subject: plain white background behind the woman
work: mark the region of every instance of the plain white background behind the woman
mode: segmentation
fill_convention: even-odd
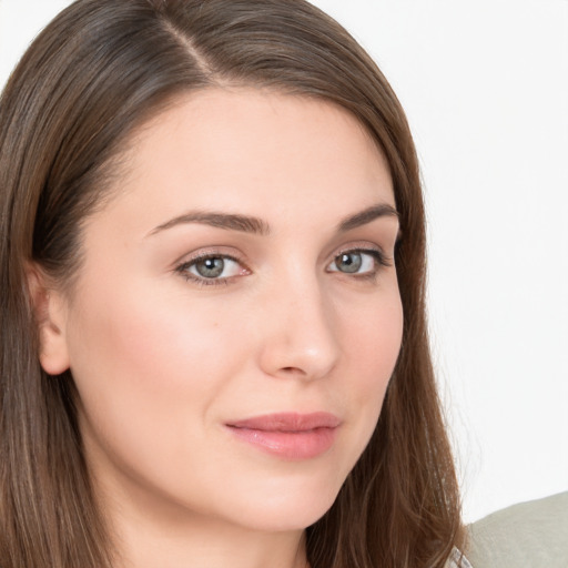
[[[0,84],[64,0],[0,0]],[[568,489],[568,1],[316,0],[406,109],[466,520]]]

